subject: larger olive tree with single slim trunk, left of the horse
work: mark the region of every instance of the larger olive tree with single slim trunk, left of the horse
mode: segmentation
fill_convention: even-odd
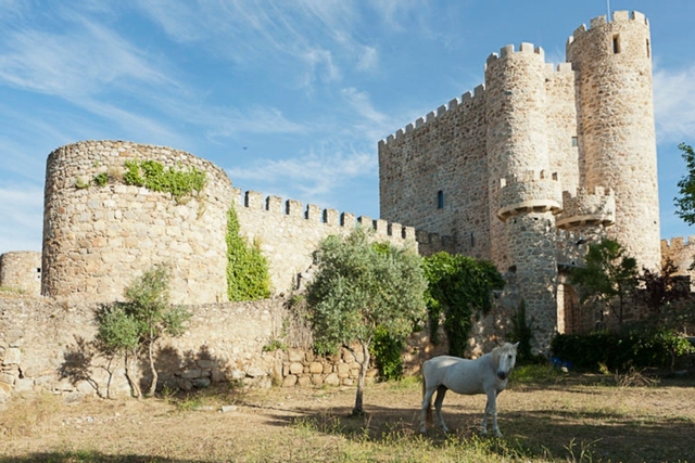
[[[409,247],[374,243],[358,228],[346,237],[330,235],[317,252],[318,270],[306,288],[306,301],[319,353],[340,347],[361,364],[353,414],[363,413],[369,347],[377,331],[404,338],[425,317],[427,287],[421,259]],[[353,346],[359,346],[362,355]]]

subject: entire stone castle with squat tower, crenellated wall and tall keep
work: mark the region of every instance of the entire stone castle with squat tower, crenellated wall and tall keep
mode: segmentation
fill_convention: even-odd
[[[659,240],[649,25],[615,12],[574,30],[567,63],[530,43],[493,53],[485,81],[378,144],[380,218],[242,192],[219,167],[182,151],[126,141],[62,146],[47,160],[43,246],[3,255],[0,285],[52,299],[112,301],[153,263],[173,265],[176,304],[226,300],[227,211],[267,257],[275,294],[293,291],[329,234],[356,226],[378,239],[492,260],[523,299],[536,347],[591,327],[567,270],[608,236],[640,265],[690,258]],[[197,168],[207,182],[185,204],[123,182],[124,164]],[[106,176],[108,182],[92,184]],[[686,256],[687,257],[683,257]],[[16,267],[16,268],[15,268]],[[683,267],[682,267],[683,268]],[[22,276],[25,275],[25,276]],[[34,291],[34,290],[31,290]]]

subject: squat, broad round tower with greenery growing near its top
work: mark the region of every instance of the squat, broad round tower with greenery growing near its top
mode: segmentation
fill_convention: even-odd
[[[124,182],[126,163],[205,175],[187,201]],[[43,208],[45,296],[80,301],[123,299],[154,265],[168,265],[175,304],[227,300],[227,213],[231,182],[189,153],[124,141],[86,141],[48,156]]]

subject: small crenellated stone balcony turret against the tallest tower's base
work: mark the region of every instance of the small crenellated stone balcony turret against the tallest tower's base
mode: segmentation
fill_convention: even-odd
[[[585,188],[572,195],[563,192],[563,214],[557,217],[559,229],[585,224],[611,226],[616,222],[616,196],[612,189],[596,187],[592,193]]]

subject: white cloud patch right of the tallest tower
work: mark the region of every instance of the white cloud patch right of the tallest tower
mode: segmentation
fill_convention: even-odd
[[[660,142],[679,142],[695,136],[695,65],[654,73],[654,112]]]

